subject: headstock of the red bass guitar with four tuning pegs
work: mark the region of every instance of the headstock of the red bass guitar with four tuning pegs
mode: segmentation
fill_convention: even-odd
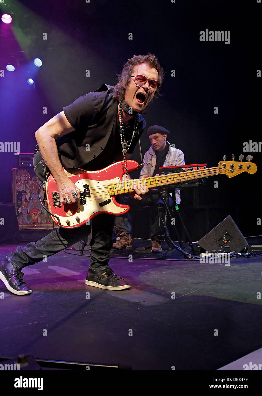
[[[239,156],[240,162],[235,161],[234,154],[232,154],[232,161],[226,161],[226,156],[223,158],[223,161],[220,161],[218,164],[219,173],[225,173],[228,177],[233,177],[243,172],[256,173],[257,166],[253,162],[250,162],[253,158],[251,155],[248,155],[246,158],[248,162],[242,162],[244,158],[243,154]]]

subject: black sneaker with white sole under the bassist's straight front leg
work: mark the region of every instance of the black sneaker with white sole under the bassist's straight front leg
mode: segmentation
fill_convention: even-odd
[[[124,290],[131,288],[131,285],[127,284],[121,276],[115,275],[111,268],[102,271],[89,268],[86,275],[86,285],[107,290]]]

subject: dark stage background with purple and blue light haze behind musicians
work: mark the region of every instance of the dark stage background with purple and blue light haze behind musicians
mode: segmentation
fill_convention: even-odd
[[[256,0],[5,0],[0,11],[13,13],[13,22],[0,27],[0,70],[5,72],[0,77],[0,140],[19,141],[20,152],[33,152],[35,131],[63,106],[104,82],[114,85],[134,54],[154,53],[165,78],[162,96],[144,115],[147,126],[170,130],[169,141],[184,152],[186,164],[216,166],[232,153],[237,160],[244,142],[262,140],[261,7]],[[230,44],[201,42],[199,33],[205,29],[230,30]],[[35,57],[43,61],[39,69]],[[15,72],[6,70],[7,63]],[[27,84],[31,76],[34,86]],[[144,134],[143,154],[149,146]],[[228,214],[245,236],[262,234],[257,224],[262,217],[261,152],[243,154],[253,155],[255,175],[208,178],[198,203],[192,190],[182,192],[181,209],[193,240]],[[11,168],[17,158],[0,153],[2,202],[11,202]],[[138,147],[133,159],[139,161]],[[146,219],[136,216],[133,236],[136,218],[145,236]]]

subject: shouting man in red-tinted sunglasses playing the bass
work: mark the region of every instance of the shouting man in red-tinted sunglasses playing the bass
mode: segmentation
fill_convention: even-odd
[[[63,167],[69,172],[75,168],[94,171],[120,160],[125,167],[145,128],[140,112],[159,93],[163,74],[155,55],[135,55],[124,65],[115,87],[103,84],[97,91],[79,97],[36,131],[39,150],[34,154],[34,170],[44,180],[46,167],[49,169],[62,204],[80,200],[80,190]],[[146,192],[148,188],[139,187],[131,195],[141,200]],[[24,249],[18,246],[0,263],[0,279],[11,293],[31,293],[21,269],[84,239],[92,227],[86,284],[109,290],[130,288],[108,265],[114,220],[112,215],[100,214],[92,219],[92,226],[60,227]]]

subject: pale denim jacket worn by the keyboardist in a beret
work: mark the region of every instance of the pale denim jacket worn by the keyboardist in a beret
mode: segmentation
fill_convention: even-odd
[[[166,159],[164,161],[163,166],[172,166],[172,165],[185,165],[184,153],[178,148],[171,147],[170,143],[166,140],[166,143],[169,145],[168,153],[166,154]],[[157,163],[157,156],[155,155],[155,151],[151,146],[149,150],[145,153],[143,159],[143,168],[140,172],[140,177],[142,178],[145,175],[153,175],[155,171],[155,166]],[[176,190],[176,203],[180,204],[180,190]]]

